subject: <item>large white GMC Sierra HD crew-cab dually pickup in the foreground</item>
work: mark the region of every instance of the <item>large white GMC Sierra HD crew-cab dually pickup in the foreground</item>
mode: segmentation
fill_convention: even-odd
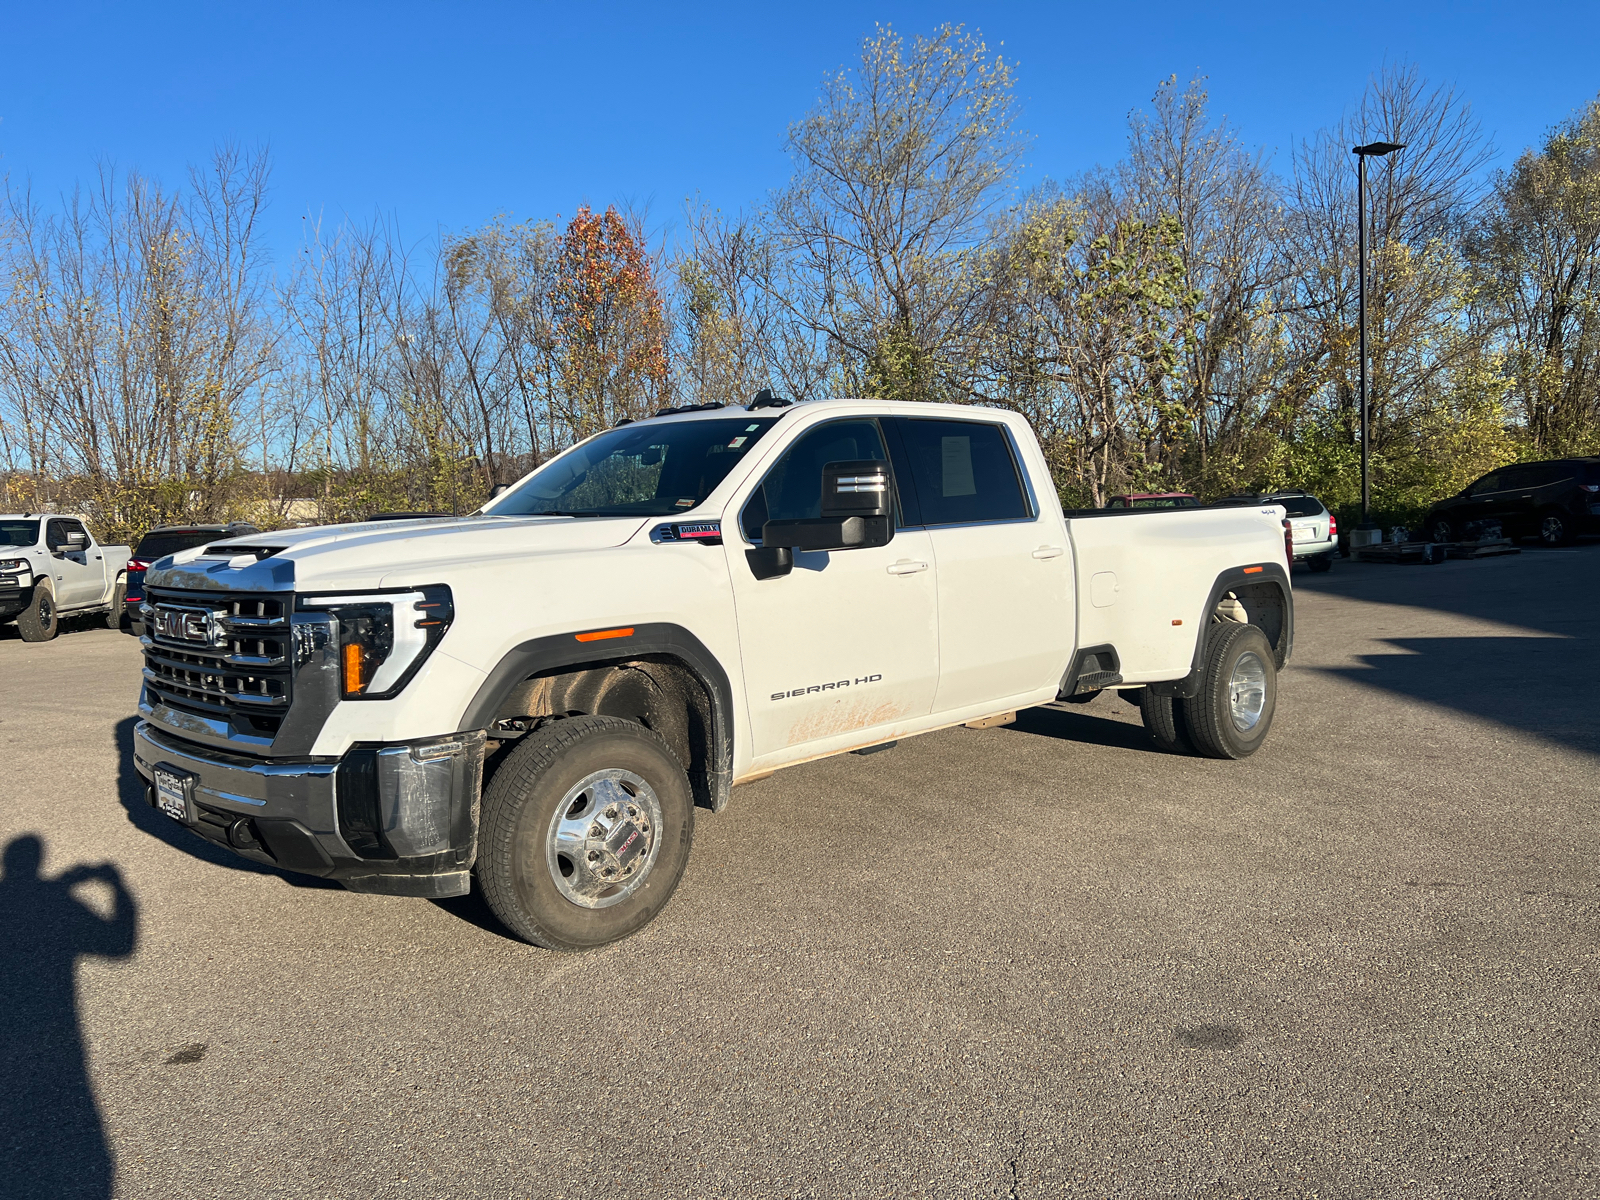
[[[667,902],[696,806],[811,758],[1106,688],[1163,749],[1251,754],[1286,565],[1275,506],[1066,515],[1011,413],[675,410],[470,517],[160,560],[136,766],[240,854],[389,894],[475,874],[584,949]]]

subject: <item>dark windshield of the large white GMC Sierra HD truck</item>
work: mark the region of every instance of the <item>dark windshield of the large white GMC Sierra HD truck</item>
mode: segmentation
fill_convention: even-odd
[[[669,517],[704,501],[778,418],[640,421],[541,467],[485,509],[494,517]]]

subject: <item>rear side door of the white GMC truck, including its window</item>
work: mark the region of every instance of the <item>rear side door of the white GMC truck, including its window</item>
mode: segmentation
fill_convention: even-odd
[[[1054,693],[1075,632],[1072,555],[1066,531],[1040,517],[1011,435],[990,421],[886,424],[896,475],[910,480],[907,522],[928,530],[938,568],[933,710]]]

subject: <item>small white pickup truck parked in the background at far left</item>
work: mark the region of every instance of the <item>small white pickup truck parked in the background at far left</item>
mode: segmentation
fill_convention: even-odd
[[[64,616],[104,613],[117,629],[128,554],[77,517],[0,514],[0,621],[16,621],[24,642],[50,642]]]

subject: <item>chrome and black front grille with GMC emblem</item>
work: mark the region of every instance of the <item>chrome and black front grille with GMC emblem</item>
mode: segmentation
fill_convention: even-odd
[[[294,597],[146,589],[144,683],[171,709],[277,733],[288,712]]]

